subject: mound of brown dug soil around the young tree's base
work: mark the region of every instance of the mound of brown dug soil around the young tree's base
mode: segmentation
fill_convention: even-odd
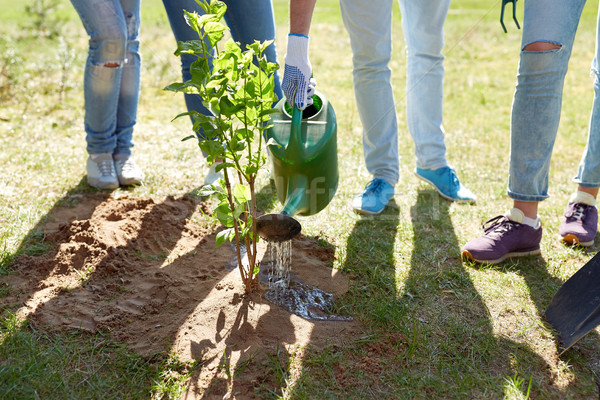
[[[108,332],[144,356],[202,360],[186,398],[210,398],[209,387],[223,398],[231,389],[218,368],[224,355],[234,368],[281,349],[343,344],[356,330],[353,322],[290,314],[262,298],[264,284],[244,294],[233,247],[216,247],[219,227],[191,197],[76,195],[69,202],[75,205],[54,208],[43,225],[51,251],[18,257],[16,273],[2,278],[11,287],[5,301],[23,304],[17,315],[42,329]],[[301,235],[293,240],[292,273],[339,297],[348,282],[330,268],[333,256]],[[266,379],[261,365],[236,375],[236,398],[252,397],[252,386]]]

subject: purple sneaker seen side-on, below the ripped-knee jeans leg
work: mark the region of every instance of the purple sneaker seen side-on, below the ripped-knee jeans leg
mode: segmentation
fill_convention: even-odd
[[[484,234],[471,240],[462,250],[463,258],[487,264],[498,264],[509,257],[540,254],[542,227],[523,224],[523,212],[517,208],[483,224]]]

